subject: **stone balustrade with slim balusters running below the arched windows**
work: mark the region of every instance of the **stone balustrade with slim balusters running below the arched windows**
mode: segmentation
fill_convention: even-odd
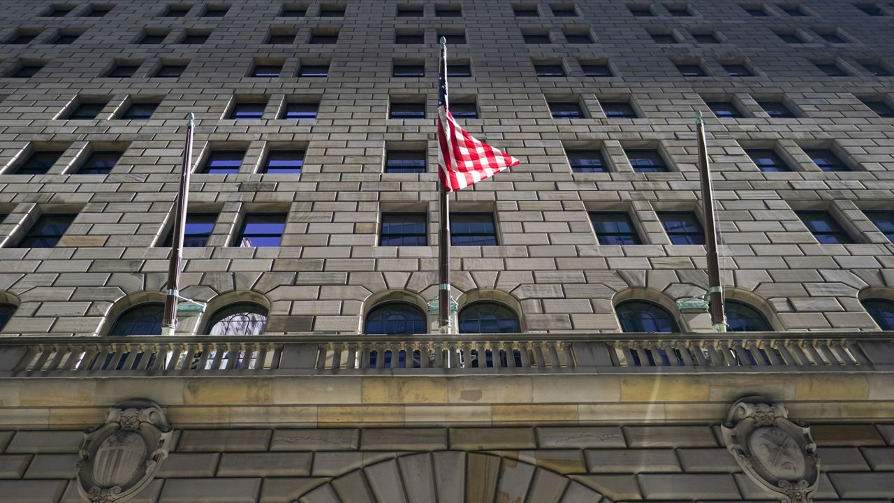
[[[744,336],[744,337],[743,337]],[[886,332],[784,334],[501,334],[384,337],[16,337],[0,342],[0,376],[97,372],[319,374],[370,372],[891,371]]]

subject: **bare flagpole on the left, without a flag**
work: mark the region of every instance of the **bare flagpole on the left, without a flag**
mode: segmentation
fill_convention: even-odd
[[[195,115],[187,116],[186,144],[183,148],[183,171],[180,192],[177,195],[176,213],[173,220],[171,263],[168,267],[167,294],[164,297],[164,321],[162,335],[173,336],[177,328],[177,303],[180,298],[180,273],[182,269],[183,234],[186,230],[186,210],[190,199],[190,167],[192,166],[192,136],[195,132]]]

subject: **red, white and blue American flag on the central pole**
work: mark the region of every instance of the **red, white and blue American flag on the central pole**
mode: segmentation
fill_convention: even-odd
[[[465,189],[510,166],[519,159],[477,141],[456,124],[447,107],[446,64],[440,68],[438,93],[438,175],[447,192]]]

